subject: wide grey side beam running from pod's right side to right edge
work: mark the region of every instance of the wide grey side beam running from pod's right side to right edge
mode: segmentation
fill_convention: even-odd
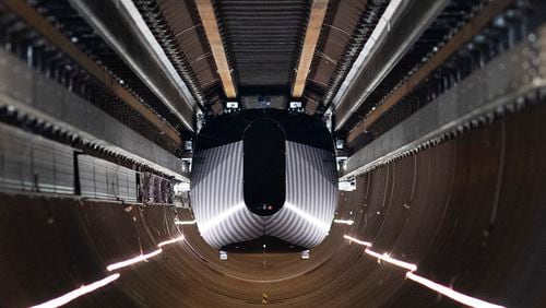
[[[495,78],[491,78],[495,76]],[[471,123],[546,97],[546,26],[352,155],[343,179],[364,174]]]

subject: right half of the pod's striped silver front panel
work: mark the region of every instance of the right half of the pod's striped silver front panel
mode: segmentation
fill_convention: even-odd
[[[329,151],[286,142],[286,201],[268,218],[268,235],[301,247],[324,239],[337,204],[334,162]]]

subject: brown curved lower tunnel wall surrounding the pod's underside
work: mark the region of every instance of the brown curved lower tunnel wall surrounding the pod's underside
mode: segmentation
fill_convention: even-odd
[[[357,178],[340,196],[334,225],[311,259],[230,254],[218,260],[194,226],[185,242],[120,270],[112,284],[75,307],[278,306],[458,307],[378,263],[378,252],[417,273],[509,307],[544,307],[546,108],[536,106]],[[37,304],[104,277],[108,263],[156,249],[178,234],[163,206],[1,194],[0,304]],[[181,220],[191,218],[180,210]]]

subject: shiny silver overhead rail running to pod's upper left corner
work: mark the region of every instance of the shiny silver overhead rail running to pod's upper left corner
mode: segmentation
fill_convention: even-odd
[[[69,0],[152,92],[193,131],[195,102],[130,0]]]

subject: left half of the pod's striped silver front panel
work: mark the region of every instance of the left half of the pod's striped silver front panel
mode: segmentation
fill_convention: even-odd
[[[199,232],[215,248],[259,237],[263,220],[242,194],[242,141],[197,152],[191,200]]]

